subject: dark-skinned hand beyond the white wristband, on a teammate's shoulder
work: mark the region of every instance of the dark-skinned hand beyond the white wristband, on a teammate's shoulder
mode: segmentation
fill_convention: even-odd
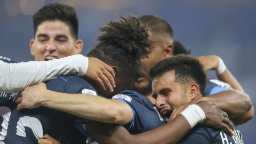
[[[235,130],[233,124],[228,119],[227,113],[217,107],[217,105],[208,101],[199,101],[196,103],[205,113],[204,125],[222,129],[229,135],[234,135],[232,130]]]

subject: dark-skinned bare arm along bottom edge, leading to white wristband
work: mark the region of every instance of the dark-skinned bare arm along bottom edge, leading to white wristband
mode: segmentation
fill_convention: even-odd
[[[182,115],[154,130],[130,134],[123,126],[93,123],[86,124],[90,137],[99,143],[177,143],[188,131],[190,125]]]

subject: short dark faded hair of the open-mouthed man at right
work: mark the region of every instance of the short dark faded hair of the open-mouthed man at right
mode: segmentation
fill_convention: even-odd
[[[201,63],[191,55],[176,55],[158,62],[149,71],[151,79],[162,76],[167,71],[175,72],[175,82],[188,85],[196,82],[201,94],[204,93],[206,85],[206,74]]]

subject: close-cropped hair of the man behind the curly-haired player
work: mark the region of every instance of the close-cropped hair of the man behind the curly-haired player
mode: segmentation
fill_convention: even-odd
[[[150,32],[154,34],[165,34],[173,39],[172,27],[164,19],[156,15],[142,15],[139,20],[147,26]]]

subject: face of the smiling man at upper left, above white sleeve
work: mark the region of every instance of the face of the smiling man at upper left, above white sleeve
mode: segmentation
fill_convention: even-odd
[[[37,27],[35,39],[30,41],[30,52],[36,61],[52,60],[78,54],[76,39],[69,26],[62,21],[44,21]]]

